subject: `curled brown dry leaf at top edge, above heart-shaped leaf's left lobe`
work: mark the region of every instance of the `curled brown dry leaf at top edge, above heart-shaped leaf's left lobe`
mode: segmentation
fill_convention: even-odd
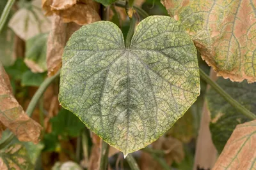
[[[43,0],[45,15],[60,15],[63,22],[76,22],[79,25],[91,24],[100,20],[99,3],[92,0]]]

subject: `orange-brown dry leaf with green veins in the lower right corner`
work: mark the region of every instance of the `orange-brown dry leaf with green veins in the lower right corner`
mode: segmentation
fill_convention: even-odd
[[[237,125],[213,169],[256,168],[256,120]]]

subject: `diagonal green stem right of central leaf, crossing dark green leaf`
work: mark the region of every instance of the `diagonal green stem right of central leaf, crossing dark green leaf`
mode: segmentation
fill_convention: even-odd
[[[243,115],[252,120],[256,119],[256,115],[254,115],[251,111],[244,108],[243,105],[238,103],[229,94],[227,94],[227,92],[225,92],[216,82],[212,81],[211,78],[207,74],[205,74],[202,69],[200,69],[200,76],[206,83],[211,85],[211,87],[214,90],[216,90],[216,92],[218,92],[218,94],[220,94],[220,96],[222,96],[231,106],[236,108],[237,111],[241,112]]]

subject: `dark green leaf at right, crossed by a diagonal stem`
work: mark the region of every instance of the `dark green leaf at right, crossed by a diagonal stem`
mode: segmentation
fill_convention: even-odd
[[[217,83],[236,101],[243,104],[252,113],[256,113],[256,83],[248,84],[246,81],[236,83],[223,78],[219,78]],[[228,104],[212,88],[207,92],[206,99],[211,112],[212,140],[218,152],[221,153],[236,125],[247,122],[249,119]]]

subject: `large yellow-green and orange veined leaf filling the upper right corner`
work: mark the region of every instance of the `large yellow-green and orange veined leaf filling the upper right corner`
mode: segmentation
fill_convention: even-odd
[[[232,81],[256,81],[256,1],[162,3],[184,25],[202,58],[218,76]]]

